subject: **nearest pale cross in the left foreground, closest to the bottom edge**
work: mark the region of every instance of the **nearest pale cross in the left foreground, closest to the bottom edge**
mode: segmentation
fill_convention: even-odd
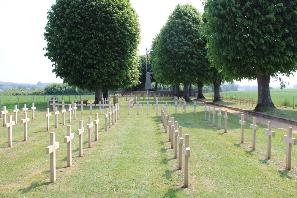
[[[45,148],[45,154],[50,154],[50,182],[56,181],[56,150],[59,148],[59,142],[56,142],[56,133],[50,133],[50,145]]]

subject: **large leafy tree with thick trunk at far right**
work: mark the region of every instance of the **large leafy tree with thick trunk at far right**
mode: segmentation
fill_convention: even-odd
[[[297,1],[208,0],[204,9],[211,63],[233,79],[257,79],[256,111],[274,107],[270,77],[296,71]]]

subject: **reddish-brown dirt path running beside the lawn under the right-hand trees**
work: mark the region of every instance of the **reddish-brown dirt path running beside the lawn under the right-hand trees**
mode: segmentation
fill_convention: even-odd
[[[203,106],[206,104],[206,103],[200,102],[200,101],[195,101],[195,102],[198,103],[199,105],[203,105]],[[209,104],[207,104],[207,106],[208,105]],[[220,106],[217,106],[215,104],[211,104],[211,107],[215,107],[216,109],[221,108],[222,111],[227,110],[228,113],[231,113],[231,114],[236,115],[238,117],[241,117],[241,114],[243,113],[242,111],[232,110],[232,109],[228,109],[226,107],[220,107]],[[251,121],[253,120],[253,117],[256,117],[257,118],[257,123],[261,123],[261,124],[264,124],[266,126],[267,126],[267,122],[271,121],[273,128],[282,129],[282,130],[285,130],[285,131],[287,131],[287,127],[290,126],[290,127],[293,128],[293,133],[297,134],[297,125],[295,125],[295,124],[290,124],[290,123],[285,123],[285,122],[281,122],[281,121],[277,121],[277,120],[263,118],[261,116],[250,115],[250,114],[247,114],[247,113],[245,113],[244,115],[245,115],[244,116],[245,119],[248,119],[248,120],[251,120]]]

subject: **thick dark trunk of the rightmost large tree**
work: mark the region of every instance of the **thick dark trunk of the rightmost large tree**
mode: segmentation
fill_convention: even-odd
[[[258,81],[258,103],[254,111],[264,111],[268,108],[276,108],[270,97],[270,75],[256,74]]]

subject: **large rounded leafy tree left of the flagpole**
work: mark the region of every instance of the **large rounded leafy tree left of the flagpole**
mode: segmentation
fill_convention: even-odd
[[[64,83],[101,91],[137,84],[138,15],[129,0],[56,0],[45,27],[47,56]]]

